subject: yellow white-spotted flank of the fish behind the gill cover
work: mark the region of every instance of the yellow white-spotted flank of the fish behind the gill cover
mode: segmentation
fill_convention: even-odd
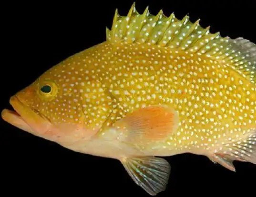
[[[255,85],[225,64],[147,45],[114,47],[113,64],[99,78],[122,107],[119,111],[126,115],[166,104],[179,112],[180,128],[163,147],[215,148],[228,136],[240,140],[255,125],[255,107],[248,106],[256,106]]]

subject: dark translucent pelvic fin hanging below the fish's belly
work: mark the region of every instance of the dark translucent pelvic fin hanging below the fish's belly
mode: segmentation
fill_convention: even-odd
[[[145,156],[123,158],[121,162],[133,181],[148,194],[155,196],[165,190],[171,171],[165,159]]]

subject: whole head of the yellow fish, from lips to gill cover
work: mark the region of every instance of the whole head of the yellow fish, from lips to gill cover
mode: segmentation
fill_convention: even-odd
[[[2,118],[51,141],[89,140],[101,127],[94,110],[99,109],[101,103],[92,95],[99,95],[97,91],[86,93],[86,89],[93,89],[91,79],[75,70],[78,70],[75,66],[59,65],[46,71],[10,98],[15,111],[4,109]]]

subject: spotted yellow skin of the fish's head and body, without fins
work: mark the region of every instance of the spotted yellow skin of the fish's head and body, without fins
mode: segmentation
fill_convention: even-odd
[[[142,54],[133,55],[134,47],[138,47],[138,51]],[[27,127],[21,124],[24,127],[21,129],[28,129],[33,134],[56,141],[79,152],[90,153],[91,150],[86,148],[88,141],[97,138],[98,143],[100,138],[103,143],[105,136],[115,137],[107,125],[113,124],[117,117],[122,118],[127,113],[142,107],[164,104],[178,111],[179,128],[164,141],[151,143],[151,146],[145,144],[145,149],[143,151],[139,149],[139,152],[142,151],[143,153],[140,154],[146,155],[170,156],[177,154],[177,151],[195,153],[205,152],[205,150],[213,151],[215,146],[220,145],[221,142],[230,141],[229,137],[239,139],[244,135],[242,131],[256,127],[254,110],[246,108],[245,102],[247,99],[248,103],[256,106],[256,92],[250,91],[255,84],[247,79],[239,79],[239,74],[232,68],[220,65],[220,69],[216,71],[211,67],[217,68],[217,64],[210,64],[210,58],[202,60],[205,66],[193,64],[191,61],[195,62],[198,57],[189,57],[182,52],[168,51],[173,54],[173,58],[170,59],[170,54],[165,53],[165,49],[152,49],[147,45],[129,45],[127,49],[125,48],[125,45],[116,46],[105,41],[64,60],[45,72],[29,87],[18,92],[10,99],[10,103],[28,124]],[[148,49],[151,51],[149,52]],[[100,56],[92,55],[102,50],[117,53],[117,56],[111,57],[112,54],[107,52],[101,53]],[[127,58],[122,57],[122,61],[119,61],[116,58],[121,53]],[[149,53],[149,57],[144,55],[146,53]],[[152,60],[150,57],[154,54],[165,54],[166,58],[161,55],[160,58],[156,57]],[[106,59],[103,63],[106,65],[104,68],[100,66],[101,57]],[[129,60],[129,57],[132,60]],[[178,57],[181,59],[178,60]],[[123,66],[125,60],[129,63]],[[149,66],[150,60],[158,63]],[[181,65],[181,68],[178,65]],[[207,70],[207,65],[212,66]],[[90,70],[90,67],[94,69]],[[196,77],[190,75],[193,69]],[[213,75],[213,72],[216,74]],[[207,79],[204,73],[207,73]],[[177,78],[179,75],[184,77]],[[222,77],[219,77],[220,75]],[[228,76],[230,80],[227,80],[225,76]],[[231,78],[234,79],[233,82]],[[211,79],[213,81],[218,79],[218,83],[211,83]],[[203,82],[203,80],[208,81]],[[161,81],[163,86],[161,86]],[[41,87],[45,84],[51,85],[52,93],[41,91]],[[221,86],[223,86],[222,89]],[[243,87],[246,89],[243,90]],[[231,96],[225,99],[221,95],[224,95],[229,88],[233,88],[233,91],[229,91]],[[250,92],[249,95],[247,95],[247,89]],[[234,97],[233,92],[235,94],[239,92],[241,96]],[[236,100],[237,106],[242,103],[238,111],[232,109],[232,106],[236,105],[230,104],[229,99]],[[122,108],[114,107],[115,105],[122,106]],[[116,113],[113,113],[114,109]],[[226,113],[228,111],[230,112]],[[5,116],[9,115],[8,111],[6,112]],[[247,116],[244,117],[244,114]],[[110,118],[110,115],[114,119]],[[218,116],[222,118],[217,118]],[[243,121],[239,119],[240,116],[244,117]],[[243,123],[246,123],[246,126]],[[104,127],[102,127],[103,124]],[[100,128],[102,129],[101,135],[98,132]],[[222,128],[225,129],[222,130]],[[242,131],[238,131],[238,128],[242,128]],[[205,143],[207,143],[206,146]],[[80,148],[81,145],[82,148]],[[94,151],[101,152],[101,150]],[[125,155],[129,154],[125,150],[123,152]],[[119,159],[121,156],[110,150],[106,157]]]

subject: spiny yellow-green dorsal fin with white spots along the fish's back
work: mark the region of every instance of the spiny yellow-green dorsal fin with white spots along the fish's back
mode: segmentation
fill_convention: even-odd
[[[182,20],[176,19],[174,13],[166,17],[162,10],[154,16],[147,7],[139,14],[133,3],[127,16],[120,16],[116,9],[112,29],[107,29],[106,36],[113,43],[144,43],[205,55],[256,83],[256,44],[243,38],[224,38],[209,29],[200,26],[199,20],[191,22],[188,16]]]

